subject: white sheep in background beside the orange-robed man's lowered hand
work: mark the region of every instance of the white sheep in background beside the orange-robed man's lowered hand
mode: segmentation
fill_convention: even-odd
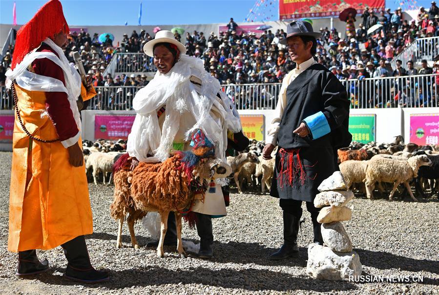
[[[93,180],[95,184],[98,184],[97,182],[97,176],[98,173],[102,172],[104,176],[104,183],[106,179],[107,173],[110,173],[110,177],[108,179],[108,184],[111,183],[111,172],[113,169],[113,164],[115,161],[115,158],[121,155],[119,152],[111,151],[108,153],[104,152],[92,152],[88,155],[88,158],[85,163],[85,170],[89,171],[90,169],[93,170]]]

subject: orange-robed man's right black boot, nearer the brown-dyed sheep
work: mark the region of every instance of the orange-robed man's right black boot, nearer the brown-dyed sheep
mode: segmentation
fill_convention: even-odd
[[[107,272],[97,271],[90,263],[84,235],[77,236],[63,245],[67,268],[64,277],[82,283],[101,283],[109,280]]]

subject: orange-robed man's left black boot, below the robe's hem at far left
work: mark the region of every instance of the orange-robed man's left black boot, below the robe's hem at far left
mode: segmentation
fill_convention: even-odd
[[[28,275],[41,274],[47,272],[49,269],[49,262],[47,259],[43,261],[38,260],[37,251],[27,250],[18,253],[18,265],[15,271],[15,276],[22,278]]]

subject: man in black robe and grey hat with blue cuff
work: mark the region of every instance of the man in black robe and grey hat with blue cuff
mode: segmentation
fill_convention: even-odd
[[[338,170],[337,149],[352,140],[346,89],[333,73],[314,61],[316,38],[321,34],[306,21],[293,21],[287,27],[284,44],[297,66],[283,80],[276,117],[263,150],[263,157],[271,159],[274,147],[279,146],[270,194],[280,198],[284,244],[270,256],[275,260],[298,252],[302,201],[311,213],[314,243],[323,244],[314,197],[320,183]]]

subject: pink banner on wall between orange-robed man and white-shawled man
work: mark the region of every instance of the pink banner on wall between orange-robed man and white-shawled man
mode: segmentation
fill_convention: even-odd
[[[96,115],[95,140],[127,139],[135,117],[134,115]]]

